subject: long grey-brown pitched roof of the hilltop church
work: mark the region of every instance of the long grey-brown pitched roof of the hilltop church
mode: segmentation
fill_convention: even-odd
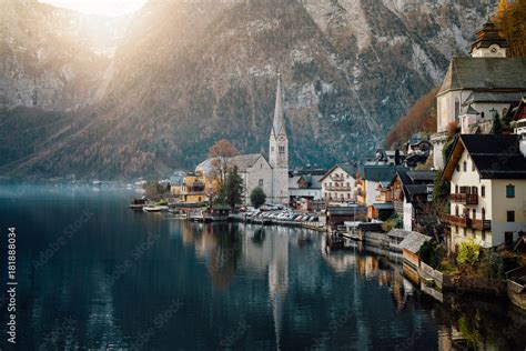
[[[438,96],[461,89],[526,91],[526,57],[453,58]]]

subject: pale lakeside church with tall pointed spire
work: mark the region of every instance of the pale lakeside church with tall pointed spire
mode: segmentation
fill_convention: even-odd
[[[213,160],[201,162],[195,172],[211,173]],[[262,153],[239,154],[229,160],[229,167],[237,167],[243,179],[244,203],[250,204],[252,190],[260,187],[266,202],[289,204],[289,138],[285,131],[285,112],[281,77],[277,77],[274,119],[269,139],[269,160]]]

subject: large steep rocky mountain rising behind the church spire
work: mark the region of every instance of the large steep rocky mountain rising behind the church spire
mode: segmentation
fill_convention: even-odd
[[[466,53],[482,2],[149,1],[78,128],[0,173],[165,174],[220,138],[266,150],[279,72],[293,164],[364,157]]]

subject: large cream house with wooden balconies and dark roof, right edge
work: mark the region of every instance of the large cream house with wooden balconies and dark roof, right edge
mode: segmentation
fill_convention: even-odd
[[[447,245],[468,237],[484,248],[512,248],[526,231],[526,134],[461,134],[442,177],[451,181]]]

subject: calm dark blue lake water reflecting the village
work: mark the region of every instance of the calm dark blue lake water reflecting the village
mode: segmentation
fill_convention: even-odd
[[[0,187],[2,287],[7,228],[17,232],[17,349],[526,347],[523,312],[467,295],[435,302],[402,277],[399,259],[327,252],[322,234],[301,229],[136,213],[132,195]]]

